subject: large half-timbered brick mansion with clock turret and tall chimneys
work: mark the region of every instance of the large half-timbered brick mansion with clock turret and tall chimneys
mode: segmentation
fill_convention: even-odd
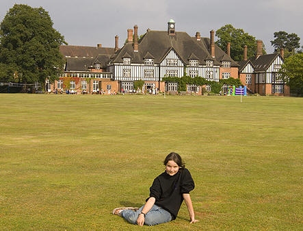
[[[239,64],[230,58],[230,48],[225,53],[215,45],[213,30],[209,38],[202,38],[200,32],[192,37],[177,32],[176,23],[170,20],[167,31],[147,29],[138,39],[137,28],[127,29],[127,43],[121,49],[118,36],[115,48],[61,46],[66,58],[64,75],[55,84],[47,83],[47,90],[70,88],[77,93],[95,93],[102,89],[112,93],[136,90],[134,82],[143,80],[143,90],[176,92],[178,84],[162,82],[163,77],[187,75],[215,82],[238,78]],[[201,94],[202,86],[188,85],[187,92]]]

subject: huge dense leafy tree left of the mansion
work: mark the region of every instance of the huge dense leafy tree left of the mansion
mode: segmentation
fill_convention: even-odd
[[[53,29],[47,11],[15,4],[0,25],[0,79],[53,82],[63,71],[62,44],[64,37]]]

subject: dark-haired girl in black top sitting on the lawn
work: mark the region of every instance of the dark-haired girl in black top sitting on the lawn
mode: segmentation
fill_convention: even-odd
[[[179,209],[185,200],[190,223],[195,223],[194,208],[189,191],[194,189],[194,180],[185,169],[181,156],[174,152],[164,160],[166,171],[155,178],[150,187],[150,197],[141,208],[115,208],[113,214],[123,217],[129,223],[143,226],[154,226],[176,219]]]

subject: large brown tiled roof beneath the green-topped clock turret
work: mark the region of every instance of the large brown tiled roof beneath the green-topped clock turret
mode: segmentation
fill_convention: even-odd
[[[125,53],[131,56],[131,62],[144,63],[144,58],[154,58],[154,63],[160,63],[167,53],[173,49],[179,58],[185,63],[189,64],[189,58],[199,60],[200,64],[206,64],[206,60],[213,60],[214,65],[220,66],[220,61],[224,58],[224,51],[215,45],[215,59],[209,53],[209,38],[202,38],[197,41],[186,32],[176,32],[174,36],[170,36],[166,31],[149,30],[142,36],[138,43],[138,52],[133,51],[133,45],[127,43],[111,57],[111,63],[123,62]],[[190,58],[190,59],[191,59]],[[230,57],[224,58],[231,62],[231,66],[239,66]]]

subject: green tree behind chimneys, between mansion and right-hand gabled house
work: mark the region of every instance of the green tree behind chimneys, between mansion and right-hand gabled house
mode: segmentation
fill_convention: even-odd
[[[243,29],[235,29],[233,25],[224,25],[215,32],[218,40],[215,42],[223,51],[226,51],[227,42],[230,42],[230,57],[235,61],[243,60],[243,47],[248,46],[247,56],[253,57],[256,51],[256,38],[245,33]],[[265,50],[263,49],[263,53]]]

